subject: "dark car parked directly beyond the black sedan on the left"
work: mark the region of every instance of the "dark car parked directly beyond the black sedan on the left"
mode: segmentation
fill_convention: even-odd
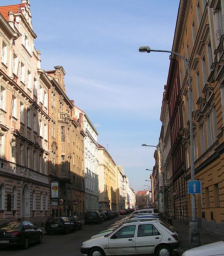
[[[67,217],[49,218],[44,228],[47,235],[51,233],[68,234],[75,230],[74,224]]]

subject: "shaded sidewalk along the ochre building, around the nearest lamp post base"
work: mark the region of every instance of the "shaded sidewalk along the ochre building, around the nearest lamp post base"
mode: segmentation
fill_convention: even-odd
[[[177,250],[177,253],[181,256],[184,251],[189,249],[189,224],[177,220],[172,221],[179,235],[180,247]],[[215,235],[214,233],[205,231],[201,228],[199,228],[199,237],[201,245],[223,240],[223,236]]]

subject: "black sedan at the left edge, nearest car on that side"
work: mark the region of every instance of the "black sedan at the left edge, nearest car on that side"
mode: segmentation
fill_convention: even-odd
[[[42,230],[29,221],[9,221],[0,225],[0,246],[42,243]]]

